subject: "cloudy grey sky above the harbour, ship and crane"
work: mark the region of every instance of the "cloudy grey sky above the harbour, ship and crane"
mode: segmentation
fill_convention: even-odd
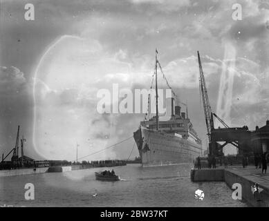
[[[26,3],[35,6],[33,21],[24,18]],[[232,17],[235,3],[241,5],[241,20]],[[132,137],[144,119],[143,114],[98,113],[97,93],[112,91],[113,84],[149,89],[156,48],[169,84],[188,104],[203,148],[197,50],[214,113],[230,126],[250,130],[269,118],[266,0],[0,0],[0,6],[4,155],[15,146],[19,124],[24,152],[37,160],[73,161],[77,144],[81,160],[129,157],[132,138],[91,155]],[[167,88],[163,77],[158,84]]]

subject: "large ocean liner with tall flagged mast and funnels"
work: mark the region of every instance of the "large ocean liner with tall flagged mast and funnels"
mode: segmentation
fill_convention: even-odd
[[[140,122],[133,138],[138,146],[142,166],[192,163],[202,155],[202,143],[187,115],[187,107],[186,112],[181,112],[181,107],[175,105],[175,99],[171,97],[169,115],[158,114],[157,65],[160,66],[160,63],[157,54],[156,50],[156,115]]]

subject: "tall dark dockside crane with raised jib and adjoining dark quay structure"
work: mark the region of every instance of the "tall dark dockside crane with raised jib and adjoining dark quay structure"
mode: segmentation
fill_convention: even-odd
[[[209,140],[208,155],[223,156],[223,147],[227,144],[232,144],[233,146],[235,146],[238,149],[239,155],[253,155],[253,153],[256,153],[258,155],[267,154],[269,146],[269,121],[266,122],[266,126],[263,126],[262,128],[256,128],[256,131],[249,131],[248,126],[228,126],[228,124],[226,124],[223,119],[221,119],[221,117],[218,117],[216,113],[212,112],[210,100],[207,94],[207,87],[203,74],[201,58],[199,52],[197,52],[197,54],[200,72],[199,88],[201,93],[201,99],[203,101],[205,124],[207,127],[207,136]],[[228,81],[225,81],[225,85],[228,86],[230,84],[228,84]],[[225,86],[223,86],[223,90],[224,88]],[[228,94],[230,96],[230,93]],[[224,97],[226,97],[226,95]],[[224,103],[219,106],[225,105]],[[221,113],[223,113],[223,111]],[[219,122],[224,126],[224,128],[214,128],[213,116],[219,120]],[[223,144],[219,144],[219,142],[223,142]]]

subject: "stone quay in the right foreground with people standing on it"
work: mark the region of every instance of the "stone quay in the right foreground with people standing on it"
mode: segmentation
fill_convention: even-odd
[[[252,206],[269,207],[269,173],[261,174],[261,169],[254,166],[232,166],[228,169],[192,169],[191,179],[193,182],[223,181],[232,189],[233,184],[241,184],[242,198]],[[252,186],[257,183],[260,193],[254,195]],[[232,197],[232,195],[231,195]]]

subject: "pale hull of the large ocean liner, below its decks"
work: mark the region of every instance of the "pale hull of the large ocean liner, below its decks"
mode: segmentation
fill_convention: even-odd
[[[192,163],[202,155],[202,146],[170,133],[140,127],[133,133],[142,166],[163,166]]]

